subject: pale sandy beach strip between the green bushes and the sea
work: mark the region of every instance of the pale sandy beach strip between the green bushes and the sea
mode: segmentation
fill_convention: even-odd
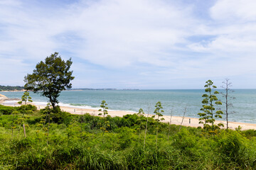
[[[8,103],[4,103],[5,106],[20,106],[18,103],[13,103],[8,104]],[[38,109],[41,108],[45,108],[46,105],[38,105],[38,104],[33,104],[33,106],[36,106]],[[96,115],[99,116],[99,113],[102,113],[100,111],[98,111],[97,109],[93,109],[93,108],[78,108],[78,107],[72,107],[72,106],[60,106],[60,109],[62,111],[66,111],[68,113],[71,114],[76,114],[76,115],[83,115],[85,113],[89,113],[90,115]],[[132,111],[108,111],[108,115],[110,115],[111,117],[115,117],[115,116],[119,116],[122,117],[124,115],[132,115],[136,112],[132,112]],[[144,116],[147,116],[147,113],[144,114]],[[151,117],[152,115],[149,114],[149,117]],[[183,126],[188,126],[188,127],[193,127],[193,128],[197,128],[197,127],[203,127],[203,124],[198,124],[199,122],[199,118],[189,118],[189,117],[181,117],[181,116],[171,116],[171,115],[164,115],[162,118],[164,118],[165,120],[161,120],[161,122],[163,123],[170,123],[171,120],[171,124],[174,125],[181,125],[182,119],[182,125]],[[224,125],[224,129],[226,127],[226,121],[225,120],[215,120],[215,123],[223,123]],[[241,130],[256,130],[256,124],[252,124],[252,123],[239,123],[239,122],[228,122],[228,128],[235,130],[235,128],[238,128],[238,126],[240,126],[242,129]]]

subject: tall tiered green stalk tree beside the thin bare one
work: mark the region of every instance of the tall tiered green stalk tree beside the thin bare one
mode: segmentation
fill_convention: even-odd
[[[216,89],[216,86],[213,86],[213,81],[208,80],[206,81],[206,87],[205,91],[207,94],[203,94],[203,108],[201,108],[201,111],[203,113],[198,113],[198,115],[201,117],[199,118],[199,123],[203,124],[204,128],[208,129],[211,128],[213,131],[215,128],[219,128],[220,126],[224,126],[222,123],[219,123],[218,126],[214,125],[215,118],[222,118],[221,114],[223,114],[223,111],[215,111],[214,103],[215,105],[222,105],[220,101],[218,101],[217,96],[215,94],[219,94],[218,91],[213,91],[213,89]],[[215,101],[215,102],[214,102]],[[210,123],[211,125],[208,125]]]

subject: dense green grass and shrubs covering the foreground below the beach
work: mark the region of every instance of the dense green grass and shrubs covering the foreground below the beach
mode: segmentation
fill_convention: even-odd
[[[49,107],[41,111],[31,107],[0,106],[6,111],[13,109],[11,115],[0,113],[0,169],[256,167],[256,130],[218,129],[216,135],[208,135],[203,129],[182,127],[179,130],[179,125],[161,123],[144,116],[142,111],[123,118],[110,115],[102,118],[71,115],[58,107],[54,111]],[[20,121],[21,118],[24,119]],[[140,137],[145,135],[147,120],[144,147]],[[100,128],[105,121],[109,126],[102,135]],[[20,130],[23,123],[26,137]]]

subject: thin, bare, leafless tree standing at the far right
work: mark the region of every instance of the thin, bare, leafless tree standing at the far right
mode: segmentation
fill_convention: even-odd
[[[235,97],[230,96],[230,93],[234,92],[233,90],[230,89],[230,86],[232,86],[232,83],[229,81],[229,79],[225,79],[225,81],[223,81],[223,86],[220,86],[225,91],[225,92],[220,92],[220,94],[222,94],[223,97],[225,98],[223,103],[225,104],[227,130],[228,130],[228,114],[230,113],[230,112],[228,112],[228,108],[233,106],[233,103],[230,103],[230,101],[235,99]]]

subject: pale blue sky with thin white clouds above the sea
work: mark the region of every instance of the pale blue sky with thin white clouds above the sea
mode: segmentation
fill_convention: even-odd
[[[0,0],[0,85],[71,57],[73,88],[256,88],[255,0]]]

